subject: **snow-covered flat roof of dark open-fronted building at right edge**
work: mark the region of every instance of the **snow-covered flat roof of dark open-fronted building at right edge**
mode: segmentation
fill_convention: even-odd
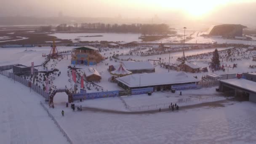
[[[238,88],[243,88],[248,91],[252,91],[256,93],[256,82],[253,82],[251,80],[246,80],[246,79],[238,79],[238,78],[233,78],[229,80],[220,80],[223,83],[227,83],[229,85],[236,86]]]

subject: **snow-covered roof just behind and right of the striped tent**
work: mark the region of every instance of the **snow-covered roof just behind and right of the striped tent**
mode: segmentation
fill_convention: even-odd
[[[154,67],[152,66],[152,64],[150,64],[149,61],[124,61],[123,66],[129,71],[137,69],[154,69]]]

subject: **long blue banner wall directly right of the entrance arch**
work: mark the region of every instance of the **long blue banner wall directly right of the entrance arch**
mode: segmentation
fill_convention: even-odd
[[[105,91],[105,92],[95,92],[95,93],[78,93],[73,94],[73,99],[98,99],[119,96],[119,91]]]

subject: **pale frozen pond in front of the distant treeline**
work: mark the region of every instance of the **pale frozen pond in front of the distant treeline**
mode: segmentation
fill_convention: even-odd
[[[99,37],[101,35],[101,37]],[[56,36],[60,39],[68,39],[73,42],[77,42],[75,39],[80,39],[81,41],[138,41],[139,34],[131,34],[131,33],[55,33],[51,34],[51,36]],[[86,36],[98,36],[98,37],[86,37]]]

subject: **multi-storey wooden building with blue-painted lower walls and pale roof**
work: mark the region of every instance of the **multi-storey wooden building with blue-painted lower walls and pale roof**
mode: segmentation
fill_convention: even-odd
[[[95,65],[104,61],[104,57],[101,56],[98,48],[84,46],[73,49],[75,51],[72,54],[71,64]]]

